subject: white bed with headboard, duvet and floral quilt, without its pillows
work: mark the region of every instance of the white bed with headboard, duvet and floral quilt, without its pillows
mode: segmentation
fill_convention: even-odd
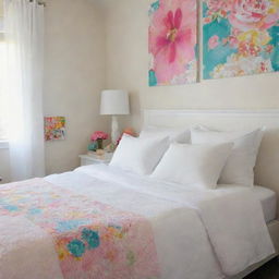
[[[278,255],[279,112],[144,114],[157,126],[266,126],[260,186],[185,190],[105,165],[1,185],[1,279],[243,278]]]

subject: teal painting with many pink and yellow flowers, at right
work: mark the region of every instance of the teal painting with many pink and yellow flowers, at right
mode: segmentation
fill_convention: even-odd
[[[204,78],[279,71],[279,0],[204,0]]]

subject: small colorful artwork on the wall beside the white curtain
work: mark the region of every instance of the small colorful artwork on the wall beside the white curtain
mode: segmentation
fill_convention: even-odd
[[[65,118],[64,117],[45,118],[45,140],[46,141],[65,140]]]

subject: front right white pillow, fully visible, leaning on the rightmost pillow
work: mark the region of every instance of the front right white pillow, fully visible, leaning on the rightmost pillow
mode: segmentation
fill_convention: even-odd
[[[215,189],[233,144],[171,144],[151,178]]]

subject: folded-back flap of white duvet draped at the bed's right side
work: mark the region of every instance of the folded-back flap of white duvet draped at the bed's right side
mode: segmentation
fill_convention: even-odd
[[[275,252],[270,238],[267,238],[267,227],[263,225],[265,220],[260,203],[250,191],[203,201],[199,210],[227,276],[234,276],[264,259],[270,251]],[[263,255],[266,256],[263,258]]]

